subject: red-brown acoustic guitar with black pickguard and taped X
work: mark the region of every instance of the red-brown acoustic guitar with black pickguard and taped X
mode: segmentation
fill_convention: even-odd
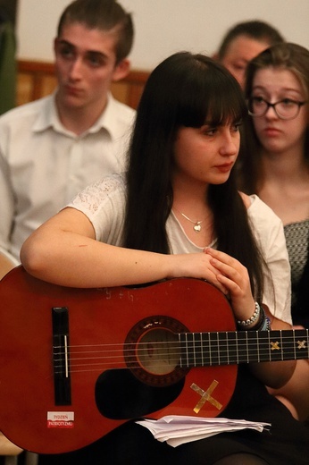
[[[238,364],[309,359],[307,330],[236,331],[198,279],[73,289],[18,266],[0,301],[0,429],[32,452],[73,451],[129,419],[215,417]]]

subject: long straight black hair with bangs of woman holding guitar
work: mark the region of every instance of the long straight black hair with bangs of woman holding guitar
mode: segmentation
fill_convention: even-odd
[[[138,106],[129,148],[126,247],[170,253],[165,225],[173,200],[173,149],[180,127],[198,128],[209,119],[213,125],[236,123],[246,114],[238,82],[205,55],[180,52],[154,69]],[[218,249],[246,266],[255,298],[260,299],[262,258],[235,174],[223,184],[211,185],[207,201],[213,209]]]

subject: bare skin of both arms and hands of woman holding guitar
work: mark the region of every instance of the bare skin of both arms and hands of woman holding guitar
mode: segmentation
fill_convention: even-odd
[[[66,266],[62,265],[63,258]],[[235,258],[214,249],[200,254],[164,255],[108,245],[96,241],[87,216],[71,207],[29,236],[21,249],[21,263],[30,275],[47,282],[83,288],[182,276],[202,278],[230,294],[237,319],[251,317],[255,309],[246,267]],[[275,327],[288,329],[289,325],[276,320]],[[252,369],[264,384],[280,387],[292,376],[295,365],[290,360],[252,364]]]

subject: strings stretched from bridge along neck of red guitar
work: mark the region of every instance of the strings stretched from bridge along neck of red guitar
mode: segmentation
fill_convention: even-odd
[[[155,368],[166,368],[167,366],[171,367],[171,365],[173,368],[177,368],[182,359],[189,360],[188,365],[186,365],[187,362],[185,363],[185,368],[237,365],[250,361],[259,361],[259,358],[262,359],[261,361],[271,361],[271,359],[276,361],[287,359],[288,357],[297,359],[297,355],[303,355],[304,351],[307,352],[307,357],[309,358],[308,330],[305,330],[305,333],[306,335],[302,334],[301,337],[305,337],[306,340],[297,341],[298,346],[296,346],[295,338],[292,335],[281,335],[278,338],[280,342],[276,340],[271,342],[268,336],[259,337],[259,350],[256,348],[255,341],[239,339],[239,334],[235,343],[226,338],[220,339],[220,341],[201,339],[197,343],[195,340],[192,340],[189,342],[163,341],[69,345],[70,371],[71,373],[94,371],[111,367],[115,369],[140,369],[145,368],[145,365],[150,362],[155,362]],[[226,347],[224,347],[224,342],[227,344]],[[288,348],[283,348],[282,351],[281,346],[283,342],[289,345]],[[221,344],[221,348],[219,348],[219,343]],[[272,346],[270,345],[271,343],[273,344]],[[150,346],[151,356],[149,356]],[[167,346],[168,350],[166,350]],[[55,347],[54,349],[57,350],[59,347]],[[299,351],[298,354],[296,350]],[[276,358],[272,357],[273,354],[276,355]],[[283,354],[283,358],[280,357],[281,354]],[[231,355],[236,361],[230,362]],[[155,356],[157,357],[156,359]],[[255,356],[255,359],[253,359],[253,356]],[[56,351],[54,353],[54,370],[56,373],[58,369],[59,373],[63,372],[62,357],[64,357],[64,351]],[[59,362],[59,365],[57,365],[57,362]]]

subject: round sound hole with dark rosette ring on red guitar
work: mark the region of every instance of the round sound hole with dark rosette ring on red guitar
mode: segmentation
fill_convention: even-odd
[[[179,333],[188,328],[175,318],[147,317],[129,331],[125,342],[126,363],[132,374],[146,385],[167,386],[187,375],[180,368]]]

